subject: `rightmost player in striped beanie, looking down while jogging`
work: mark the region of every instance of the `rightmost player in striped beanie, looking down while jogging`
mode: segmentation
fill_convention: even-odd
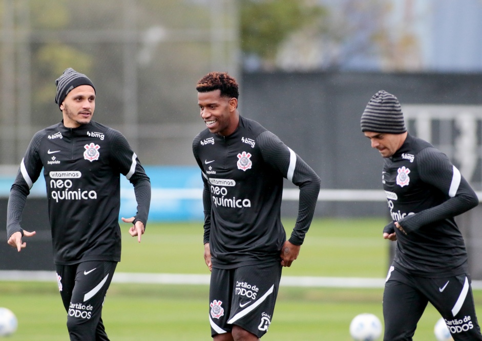
[[[397,241],[383,294],[385,341],[412,340],[430,302],[454,340],[482,340],[464,239],[454,217],[478,204],[448,157],[407,132],[397,98],[384,90],[368,102],[361,127],[384,160],[383,189]]]

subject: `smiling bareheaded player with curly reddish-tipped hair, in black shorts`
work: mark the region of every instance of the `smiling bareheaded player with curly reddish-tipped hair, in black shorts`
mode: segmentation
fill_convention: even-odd
[[[197,83],[206,129],[193,142],[204,182],[204,259],[215,341],[258,340],[273,319],[282,266],[297,259],[320,178],[281,140],[238,112],[238,84],[212,72]],[[289,240],[280,219],[283,178],[300,188]]]

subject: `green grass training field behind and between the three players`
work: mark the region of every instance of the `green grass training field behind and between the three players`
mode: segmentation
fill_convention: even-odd
[[[287,230],[292,221],[285,220]],[[388,242],[381,237],[385,221],[376,219],[313,222],[301,253],[285,276],[384,278]],[[149,224],[140,244],[122,225],[122,261],[117,272],[207,274],[201,223]],[[211,340],[207,285],[112,284],[103,308],[110,338],[122,340]],[[269,332],[263,340],[349,341],[351,319],[371,312],[382,320],[383,289],[281,287]],[[475,291],[477,307],[482,292]],[[66,312],[57,283],[2,282],[0,306],[18,318],[8,340],[68,339]],[[478,310],[479,315],[482,310]],[[429,306],[414,340],[435,340],[439,315]]]

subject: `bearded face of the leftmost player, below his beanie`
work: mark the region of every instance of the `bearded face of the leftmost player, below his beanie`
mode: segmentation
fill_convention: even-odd
[[[67,94],[60,110],[64,115],[64,125],[77,128],[92,120],[95,109],[95,91],[90,85],[80,85]]]

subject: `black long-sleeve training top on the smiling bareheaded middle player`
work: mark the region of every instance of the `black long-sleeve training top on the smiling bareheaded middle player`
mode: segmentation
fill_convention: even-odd
[[[315,211],[320,178],[259,123],[240,117],[223,137],[208,129],[193,141],[204,182],[204,243],[218,268],[280,259],[283,178],[300,188],[299,213],[289,241],[301,245]]]

